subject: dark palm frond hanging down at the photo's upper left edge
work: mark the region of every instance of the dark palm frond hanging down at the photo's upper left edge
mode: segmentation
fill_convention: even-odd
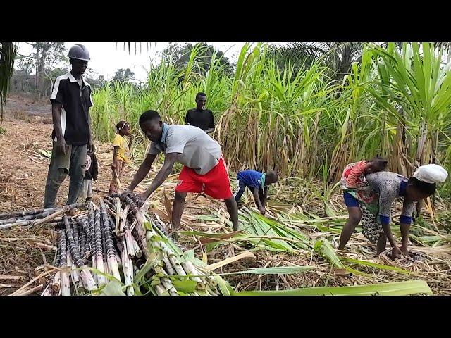
[[[0,42],[0,106],[1,121],[3,122],[3,106],[9,92],[9,80],[13,75],[14,58],[16,58],[18,44],[16,42]]]

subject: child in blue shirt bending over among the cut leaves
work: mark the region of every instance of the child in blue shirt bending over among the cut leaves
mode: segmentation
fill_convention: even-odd
[[[255,204],[261,215],[265,214],[266,197],[268,196],[268,185],[274,184],[278,180],[278,175],[271,170],[268,173],[260,173],[255,170],[244,170],[237,173],[237,192],[233,195],[237,203],[240,201],[245,189],[249,189],[254,194]]]

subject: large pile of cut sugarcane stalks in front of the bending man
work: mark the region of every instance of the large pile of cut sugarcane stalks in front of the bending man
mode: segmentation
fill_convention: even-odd
[[[120,283],[120,294],[220,295],[228,284],[169,238],[159,219],[129,197],[108,196],[87,213],[63,215],[51,277],[42,296],[102,293]],[[218,284],[219,283],[219,284]]]

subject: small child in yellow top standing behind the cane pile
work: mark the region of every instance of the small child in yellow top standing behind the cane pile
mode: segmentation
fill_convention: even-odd
[[[113,170],[113,178],[110,183],[110,193],[119,192],[119,184],[121,184],[121,177],[124,170],[124,165],[130,163],[130,149],[132,149],[133,135],[130,134],[130,123],[126,121],[119,121],[116,125],[118,134],[114,137],[113,146],[113,163],[111,170]],[[127,143],[125,136],[128,136],[130,141]]]

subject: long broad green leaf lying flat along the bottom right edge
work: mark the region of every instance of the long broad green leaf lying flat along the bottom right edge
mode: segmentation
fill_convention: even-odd
[[[306,287],[281,291],[233,292],[233,296],[407,296],[409,294],[433,294],[433,292],[424,280],[352,287]]]

